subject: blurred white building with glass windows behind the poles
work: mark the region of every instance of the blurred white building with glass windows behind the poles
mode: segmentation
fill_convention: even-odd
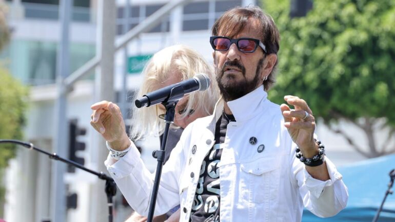
[[[30,107],[27,114],[28,123],[25,130],[25,140],[36,147],[48,152],[53,150],[54,137],[54,99],[56,97],[56,48],[60,39],[60,22],[58,21],[58,1],[56,0],[12,0],[10,7],[9,25],[11,26],[12,41],[4,53],[9,58],[11,73],[31,86]],[[46,3],[46,4],[43,4]],[[117,38],[156,10],[167,4],[161,0],[131,0],[129,18],[125,18],[126,0],[118,0],[116,32]],[[70,26],[70,71],[73,72],[84,65],[95,55],[96,44],[96,0],[74,0],[73,22]],[[255,4],[254,0],[196,0],[185,6],[175,8],[170,15],[163,19],[162,24],[147,33],[141,34],[128,44],[128,57],[150,55],[173,44],[185,44],[199,51],[212,62],[212,49],[209,44],[210,27],[224,11],[236,5]],[[112,43],[109,43],[112,44]],[[116,52],[115,89],[120,95],[123,83],[123,72],[126,57],[123,50]],[[138,69],[131,67],[130,69]],[[77,119],[78,126],[86,128],[87,133],[82,138],[86,142],[85,151],[78,155],[85,158],[85,167],[98,170],[103,166],[104,159],[97,159],[94,138],[98,136],[90,127],[90,105],[94,102],[93,73],[74,85],[74,90],[68,95],[67,118]],[[127,75],[127,90],[139,88],[141,76],[139,73]],[[117,102],[120,102],[119,100]],[[130,106],[130,104],[129,104]],[[124,114],[124,116],[126,116]],[[354,153],[339,136],[331,134],[319,125],[318,134],[328,148],[328,154],[333,153],[335,163],[351,162],[362,159]],[[153,149],[159,148],[159,142],[143,144],[143,157],[153,171],[156,160],[151,157]],[[102,151],[106,152],[106,151]],[[67,156],[66,156],[67,158]],[[6,175],[6,205],[5,219],[8,222],[21,221],[54,221],[50,218],[50,183],[51,162],[47,156],[24,148],[18,150],[18,155],[11,160]],[[106,172],[105,172],[106,173]],[[108,173],[107,173],[108,174]],[[93,203],[96,195],[92,187],[101,183],[94,175],[81,170],[68,173],[65,176],[68,193],[78,196],[77,208],[67,210],[65,221],[107,221],[107,217],[97,218],[97,205],[107,206],[107,203]],[[103,187],[104,192],[104,187]],[[120,193],[118,191],[118,193]],[[130,214],[130,208],[122,205],[118,194],[115,198],[116,214],[114,221],[123,221]]]

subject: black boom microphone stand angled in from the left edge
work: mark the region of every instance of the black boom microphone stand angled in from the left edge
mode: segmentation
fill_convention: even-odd
[[[24,147],[29,148],[30,150],[36,150],[36,151],[38,151],[40,153],[44,153],[44,154],[48,155],[50,159],[60,160],[63,163],[66,163],[68,165],[74,166],[76,168],[80,168],[81,170],[84,170],[86,172],[89,172],[89,173],[92,173],[92,174],[96,175],[100,179],[106,180],[105,192],[107,194],[107,203],[108,203],[108,221],[112,222],[112,219],[113,219],[113,217],[112,217],[112,206],[113,206],[112,198],[116,194],[116,184],[115,184],[115,181],[114,181],[113,178],[107,176],[103,172],[97,173],[97,172],[95,172],[93,170],[85,168],[81,164],[75,163],[75,162],[73,162],[73,161],[71,161],[69,159],[62,158],[62,157],[58,156],[56,153],[49,153],[49,152],[46,152],[46,151],[44,151],[42,149],[36,148],[31,143],[26,143],[26,142],[23,142],[21,140],[15,140],[15,139],[0,139],[0,144],[1,143],[11,143],[11,144],[22,145]]]

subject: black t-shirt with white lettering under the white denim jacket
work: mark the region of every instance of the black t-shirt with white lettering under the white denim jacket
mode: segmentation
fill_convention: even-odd
[[[233,116],[224,114],[215,125],[215,144],[204,158],[192,204],[191,222],[220,221],[220,168],[222,147],[226,128]]]

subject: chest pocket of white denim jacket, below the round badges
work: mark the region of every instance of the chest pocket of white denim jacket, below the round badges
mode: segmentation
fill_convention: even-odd
[[[258,208],[269,206],[269,201],[278,198],[280,183],[280,161],[275,156],[263,157],[253,162],[241,163],[241,184],[243,199],[249,203],[265,203]],[[267,211],[266,211],[267,212]]]

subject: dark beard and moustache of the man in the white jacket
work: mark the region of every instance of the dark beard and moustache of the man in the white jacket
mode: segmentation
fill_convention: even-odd
[[[254,89],[256,89],[256,86],[259,85],[258,82],[260,81],[260,73],[261,73],[261,69],[263,67],[263,61],[264,61],[264,58],[261,58],[259,60],[258,66],[256,66],[255,77],[250,81],[248,81],[246,79],[246,69],[237,60],[225,62],[225,64],[222,66],[221,70],[219,70],[218,67],[215,68],[216,82],[218,83],[218,87],[220,88],[220,92],[221,92],[225,102],[228,102],[228,101],[231,101],[234,99],[238,99],[238,98],[252,92]],[[233,66],[233,67],[239,68],[244,76],[244,79],[242,79],[236,83],[228,83],[226,85],[222,84],[221,79],[222,79],[222,76],[224,75],[225,68],[227,66]],[[227,78],[234,78],[233,75],[228,75],[226,77]]]

